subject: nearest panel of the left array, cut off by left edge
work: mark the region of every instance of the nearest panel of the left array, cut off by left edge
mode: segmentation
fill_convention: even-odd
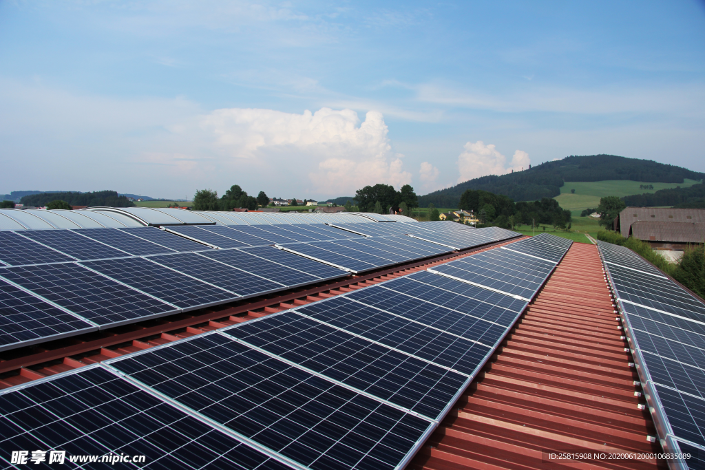
[[[97,327],[0,280],[0,350],[93,330]]]

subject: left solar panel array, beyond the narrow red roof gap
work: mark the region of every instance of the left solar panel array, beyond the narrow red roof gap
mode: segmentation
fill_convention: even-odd
[[[424,230],[423,224],[360,225],[418,225],[417,230]],[[454,225],[459,224],[444,227],[472,231]],[[442,229],[436,225],[427,231]],[[24,300],[5,295],[7,302],[19,304],[4,309],[0,350],[450,251],[412,237],[369,238],[322,224],[185,225],[168,230],[172,233],[154,227],[1,231],[0,281],[24,292]],[[400,230],[405,231],[384,233]],[[297,250],[269,246],[275,243]],[[18,315],[18,309],[30,313]]]

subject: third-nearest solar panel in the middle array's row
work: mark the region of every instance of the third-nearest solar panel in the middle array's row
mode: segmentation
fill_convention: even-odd
[[[228,335],[431,419],[468,378],[306,319],[293,311],[223,330]]]

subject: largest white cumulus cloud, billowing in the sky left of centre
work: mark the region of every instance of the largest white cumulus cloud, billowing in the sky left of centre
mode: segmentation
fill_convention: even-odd
[[[376,183],[399,188],[412,180],[377,111],[369,111],[360,123],[350,109],[302,114],[219,109],[202,116],[200,125],[212,132],[216,148],[234,166],[271,171],[274,178],[288,178],[287,186],[292,178],[305,179],[307,184],[298,186],[307,187],[309,194],[353,194]]]

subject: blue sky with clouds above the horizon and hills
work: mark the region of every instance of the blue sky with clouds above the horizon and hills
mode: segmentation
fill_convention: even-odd
[[[704,33],[697,1],[0,0],[0,193],[705,171]]]

